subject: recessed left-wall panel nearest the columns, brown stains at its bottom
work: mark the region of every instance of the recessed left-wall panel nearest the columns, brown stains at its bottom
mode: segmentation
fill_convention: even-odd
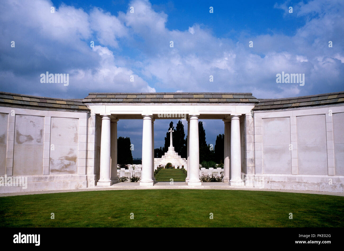
[[[77,118],[51,118],[50,150],[51,174],[77,173],[78,156],[78,126]]]

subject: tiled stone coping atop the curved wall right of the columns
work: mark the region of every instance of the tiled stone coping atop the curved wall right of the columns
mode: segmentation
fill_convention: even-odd
[[[282,98],[282,99],[258,99],[259,103],[253,108],[255,111],[288,109],[302,106],[315,106],[326,104],[344,103],[344,91],[323,93],[317,95]]]

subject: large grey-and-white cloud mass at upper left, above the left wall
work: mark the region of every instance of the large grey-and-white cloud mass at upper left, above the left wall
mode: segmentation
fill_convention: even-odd
[[[155,92],[130,66],[118,65],[107,47],[118,48],[118,38],[127,36],[127,28],[115,16],[99,8],[88,14],[64,4],[51,13],[52,6],[44,0],[3,2],[2,91],[60,98],[84,98],[94,91]],[[90,41],[95,41],[93,48]],[[68,87],[40,83],[46,71],[69,73]]]

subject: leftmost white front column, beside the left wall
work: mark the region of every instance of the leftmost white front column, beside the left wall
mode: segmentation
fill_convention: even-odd
[[[100,139],[100,178],[97,186],[110,186],[110,116],[103,115],[101,118]]]

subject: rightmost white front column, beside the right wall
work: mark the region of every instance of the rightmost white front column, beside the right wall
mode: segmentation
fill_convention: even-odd
[[[240,118],[233,115],[230,128],[230,171],[229,185],[243,186],[241,179],[241,145],[240,145]]]

